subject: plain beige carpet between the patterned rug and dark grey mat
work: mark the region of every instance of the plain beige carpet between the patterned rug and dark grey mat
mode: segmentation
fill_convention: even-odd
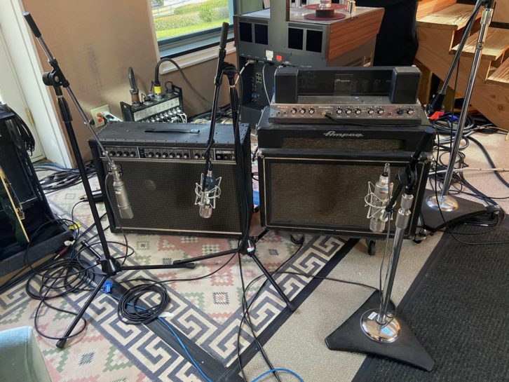
[[[505,135],[475,134],[474,137],[484,144],[499,168],[509,167],[509,141],[505,140]],[[470,167],[489,168],[489,163],[477,145],[471,143],[465,153],[466,163]],[[503,177],[509,180],[507,172]],[[509,196],[509,190],[492,172],[468,173],[466,179],[489,196]],[[509,200],[500,200],[499,205],[509,212]],[[420,244],[405,240],[393,289],[393,301],[396,304],[412,285],[441,236],[442,233],[435,233]],[[370,257],[361,241],[334,268],[330,276],[377,287],[384,246],[383,242],[377,243],[376,256]],[[371,293],[363,287],[323,281],[266,343],[266,352],[275,367],[292,369],[306,382],[351,381],[365,356],[328,350],[325,337],[355,312]],[[253,378],[266,370],[266,365],[262,357],[257,355],[245,370],[248,378]],[[281,379],[295,381],[294,377],[285,374],[281,374]],[[267,380],[276,381],[273,377]]]

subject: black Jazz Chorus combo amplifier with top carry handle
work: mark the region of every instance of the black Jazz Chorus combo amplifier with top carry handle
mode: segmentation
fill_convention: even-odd
[[[150,129],[167,131],[146,132]],[[199,132],[182,132],[191,130]],[[194,205],[196,183],[200,182],[201,173],[205,170],[203,154],[208,133],[209,125],[118,122],[97,134],[104,149],[121,166],[133,219],[119,218],[112,189],[113,179],[108,177],[107,188],[104,184],[107,162],[95,140],[89,140],[112,232],[121,232],[122,227],[124,231],[139,233],[240,236],[240,221],[245,221],[247,212],[241,211],[240,176],[236,168],[232,125],[216,126],[211,152],[213,175],[222,177],[222,181],[221,196],[212,217],[203,219],[198,214],[198,206]],[[238,170],[245,175],[247,205],[251,214],[250,132],[245,125],[240,126],[240,139],[245,168]]]

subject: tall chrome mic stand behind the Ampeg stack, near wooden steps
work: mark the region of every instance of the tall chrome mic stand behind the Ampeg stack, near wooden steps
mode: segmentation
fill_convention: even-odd
[[[474,8],[474,13],[468,21],[465,34],[461,39],[461,43],[459,44],[459,48],[456,51],[456,55],[454,55],[452,65],[449,69],[449,72],[447,73],[444,85],[442,86],[442,90],[440,90],[440,92],[435,95],[435,97],[433,97],[433,100],[430,102],[430,106],[428,107],[428,115],[435,111],[439,111],[442,108],[442,101],[444,99],[445,91],[447,90],[447,86],[452,77],[454,67],[456,67],[458,64],[459,57],[463,52],[463,46],[465,45],[466,39],[468,37],[468,32],[474,23],[477,11],[480,9],[482,4],[484,4],[484,9],[481,16],[481,28],[479,31],[479,37],[477,38],[477,43],[475,45],[472,67],[470,68],[470,74],[466,84],[463,107],[461,107],[461,114],[459,116],[458,125],[456,127],[456,135],[454,136],[454,144],[449,156],[449,165],[447,166],[447,172],[444,177],[442,192],[440,193],[440,196],[438,196],[436,193],[437,191],[427,190],[425,197],[426,203],[423,203],[422,205],[421,212],[423,216],[423,226],[433,231],[446,226],[448,221],[450,223],[454,223],[454,221],[458,221],[460,219],[464,219],[465,217],[474,216],[486,211],[486,207],[480,203],[475,203],[470,200],[454,198],[450,196],[449,189],[451,187],[456,157],[458,156],[459,146],[461,144],[461,137],[463,137],[463,130],[465,128],[466,119],[468,117],[468,106],[472,98],[475,77],[477,76],[477,70],[479,69],[479,64],[482,58],[484,41],[486,41],[487,31],[493,16],[493,3],[494,0],[477,1],[477,4]],[[457,67],[456,70],[459,70],[459,67]]]

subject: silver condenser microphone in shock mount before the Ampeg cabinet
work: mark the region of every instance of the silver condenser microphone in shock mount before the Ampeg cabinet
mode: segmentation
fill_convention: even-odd
[[[389,165],[385,165],[378,182],[373,186],[368,184],[368,193],[365,198],[369,205],[368,218],[369,229],[372,232],[384,232],[388,216],[385,214],[385,207],[391,199],[391,183],[389,182]]]

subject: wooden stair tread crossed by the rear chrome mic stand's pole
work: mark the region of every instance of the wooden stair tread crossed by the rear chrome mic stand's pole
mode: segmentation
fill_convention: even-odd
[[[468,37],[463,48],[462,56],[473,57],[475,53],[475,46],[477,45],[477,39],[479,38],[479,32]],[[482,49],[482,58],[487,60],[495,61],[509,49],[509,29],[501,28],[489,28],[486,36],[486,42]],[[449,53],[454,54],[458,50],[458,46],[451,49]]]

